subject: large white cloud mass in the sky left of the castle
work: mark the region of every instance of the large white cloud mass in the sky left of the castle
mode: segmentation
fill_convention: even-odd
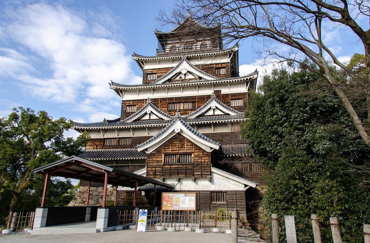
[[[5,12],[1,36],[20,47],[0,49],[0,76],[20,81],[27,96],[69,104],[89,120],[117,117],[109,112],[120,99],[108,82],[137,84],[141,77],[131,70],[132,57],[124,45],[114,40],[111,30],[120,27],[110,13],[46,3]]]

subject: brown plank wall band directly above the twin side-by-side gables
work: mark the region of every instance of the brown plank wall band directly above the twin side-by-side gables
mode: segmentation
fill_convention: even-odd
[[[216,98],[219,99],[222,103],[226,104],[227,106],[232,107],[235,110],[243,112],[248,106],[248,93],[236,93],[236,94],[218,94]],[[203,104],[205,104],[209,99],[211,99],[211,94],[209,95],[202,95],[202,96],[185,96],[185,97],[167,97],[167,98],[159,98],[159,99],[151,99],[152,103],[157,106],[163,112],[175,116],[176,110],[168,110],[168,103],[171,102],[195,102],[196,108],[195,109],[184,109],[179,110],[182,116],[186,116]],[[243,106],[231,106],[231,99],[243,99]],[[126,105],[136,105],[136,110],[141,109],[147,103],[147,99],[142,100],[123,100],[122,101],[122,109],[121,109],[121,119],[125,119],[134,112],[126,112]]]

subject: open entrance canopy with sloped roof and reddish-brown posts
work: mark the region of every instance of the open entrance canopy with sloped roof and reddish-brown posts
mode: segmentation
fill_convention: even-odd
[[[33,170],[35,173],[45,174],[44,192],[41,200],[41,207],[44,207],[44,200],[47,190],[47,182],[50,176],[60,176],[65,178],[73,178],[78,180],[85,180],[89,182],[87,191],[86,206],[88,206],[88,198],[90,194],[90,183],[98,182],[104,183],[103,190],[103,207],[105,207],[107,185],[116,186],[114,205],[117,200],[117,186],[127,186],[135,188],[134,192],[134,206],[136,206],[137,187],[144,186],[151,183],[155,189],[157,186],[164,186],[168,189],[174,186],[160,182],[145,176],[140,176],[131,172],[116,169],[111,166],[95,163],[89,160],[82,159],[77,156],[71,156],[57,162],[38,167]]]

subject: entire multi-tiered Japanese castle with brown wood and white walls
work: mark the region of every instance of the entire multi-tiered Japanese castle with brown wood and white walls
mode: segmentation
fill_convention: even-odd
[[[258,72],[239,76],[239,47],[223,49],[219,26],[188,16],[155,34],[156,56],[133,54],[142,84],[110,83],[122,101],[120,118],[74,123],[91,136],[79,157],[173,184],[174,192],[197,192],[197,210],[237,208],[246,216],[250,190],[265,173],[239,133]]]

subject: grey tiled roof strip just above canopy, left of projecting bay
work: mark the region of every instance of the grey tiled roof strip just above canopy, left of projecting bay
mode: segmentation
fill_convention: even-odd
[[[137,149],[85,150],[78,157],[84,159],[144,159],[145,153]]]

